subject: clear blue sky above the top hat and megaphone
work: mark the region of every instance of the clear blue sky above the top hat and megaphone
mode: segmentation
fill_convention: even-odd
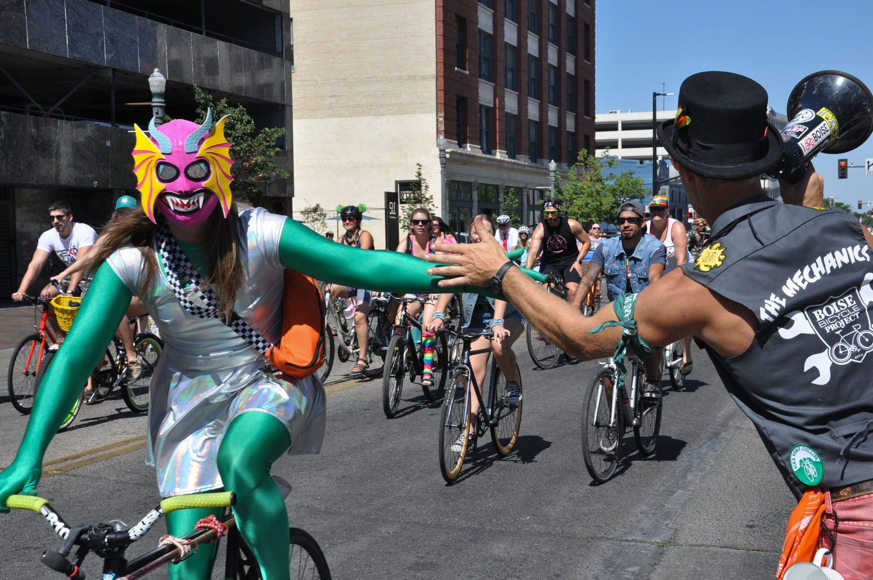
[[[849,72],[873,90],[870,0],[598,0],[595,10],[597,113],[650,111],[653,91],[678,93],[686,77],[701,71],[757,80],[780,113],[794,85],[812,72]],[[677,107],[676,96],[665,99],[667,109]],[[873,201],[873,176],[849,169],[848,179],[837,179],[837,156],[863,165],[873,158],[873,137],[854,151],[819,154],[814,162],[826,197],[853,208],[859,199]]]

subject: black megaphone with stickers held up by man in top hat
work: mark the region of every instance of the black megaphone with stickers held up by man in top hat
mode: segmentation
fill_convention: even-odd
[[[767,175],[796,182],[821,151],[845,153],[867,141],[873,133],[873,94],[846,72],[814,72],[794,86],[787,114],[784,152]]]

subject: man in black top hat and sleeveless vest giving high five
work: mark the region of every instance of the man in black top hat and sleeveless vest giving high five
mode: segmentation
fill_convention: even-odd
[[[826,503],[835,570],[846,580],[870,578],[873,238],[849,214],[803,206],[821,205],[811,166],[800,183],[781,183],[786,204],[763,195],[760,175],[782,155],[766,104],[764,87],[739,74],[685,79],[676,118],[657,135],[711,238],[693,264],[623,294],[621,307],[586,319],[543,296],[491,242],[440,255],[450,266],[430,273],[457,276],[444,287],[502,289],[534,327],[582,359],[612,353],[618,328],[588,331],[619,317],[636,321],[638,353],[697,337],[788,487]],[[822,542],[833,548],[828,535]]]

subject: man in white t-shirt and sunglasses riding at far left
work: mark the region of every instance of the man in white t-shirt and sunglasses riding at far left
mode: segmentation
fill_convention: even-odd
[[[37,249],[33,251],[31,264],[27,266],[27,272],[24,273],[24,278],[21,280],[21,285],[18,291],[12,294],[12,300],[24,300],[24,295],[27,289],[31,287],[33,280],[37,279],[40,272],[43,271],[45,262],[49,259],[49,255],[54,252],[64,265],[69,267],[74,261],[79,252],[90,249],[97,240],[97,232],[93,227],[86,224],[77,224],[72,221],[72,208],[70,204],[63,201],[55,202],[49,206],[49,219],[52,220],[52,229],[44,231],[39,236]],[[69,288],[75,290],[77,287],[87,287],[86,281],[82,280],[84,272],[79,271],[73,273],[70,277]],[[58,290],[51,284],[42,289],[40,296],[57,296]],[[52,321],[54,319],[52,318]]]

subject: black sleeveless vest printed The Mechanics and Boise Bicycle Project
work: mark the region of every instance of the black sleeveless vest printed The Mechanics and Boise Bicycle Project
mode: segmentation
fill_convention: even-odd
[[[718,217],[686,276],[751,310],[731,358],[708,347],[794,494],[791,454],[811,447],[822,487],[873,479],[873,251],[854,217],[753,197]]]

